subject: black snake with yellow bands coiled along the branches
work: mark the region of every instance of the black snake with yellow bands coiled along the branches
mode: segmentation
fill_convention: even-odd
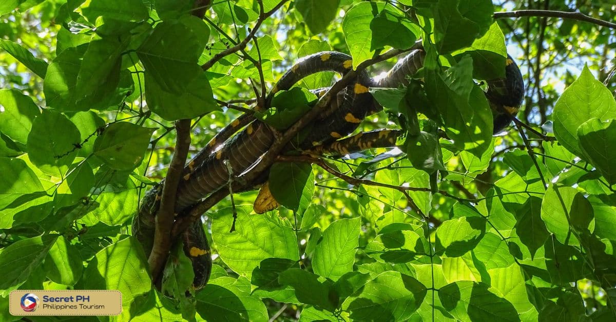
[[[395,139],[402,135],[400,130],[377,130],[342,138],[355,131],[367,115],[382,109],[370,94],[370,88],[406,86],[410,82],[409,76],[423,67],[426,53],[420,43],[415,47],[405,57],[400,58],[384,77],[370,78],[367,71],[361,71],[351,84],[336,94],[336,99],[331,100],[330,106],[309,124],[310,131],[304,133],[299,142],[288,143],[283,153],[307,151],[318,155],[326,153],[344,155],[366,150],[372,146],[394,146]],[[265,107],[269,106],[278,92],[288,91],[310,74],[334,71],[344,76],[352,70],[352,65],[351,56],[341,52],[318,52],[301,58],[272,88],[265,99]],[[492,108],[496,133],[508,126],[512,116],[519,110],[524,98],[524,81],[519,67],[508,55],[505,78],[488,80],[486,83],[488,90],[485,92],[485,97]],[[322,96],[328,89],[326,87],[311,92]],[[226,187],[233,174],[241,174],[257,163],[274,141],[275,131],[260,119],[245,114],[232,121],[185,166],[182,180],[177,188],[176,214],[185,211],[214,191]],[[161,180],[146,193],[132,223],[132,233],[142,244],[147,255],[153,247],[155,215],[160,207],[163,182],[164,180]],[[256,184],[262,188],[255,201],[255,211],[264,212],[276,207],[277,203],[272,202],[266,180],[262,178],[261,182]],[[270,198],[267,199],[267,196]],[[261,204],[259,211],[257,204]],[[192,261],[195,273],[192,288],[198,291],[208,283],[212,267],[211,251],[203,223],[200,220],[194,222],[182,233],[181,239],[184,242],[184,252]]]

